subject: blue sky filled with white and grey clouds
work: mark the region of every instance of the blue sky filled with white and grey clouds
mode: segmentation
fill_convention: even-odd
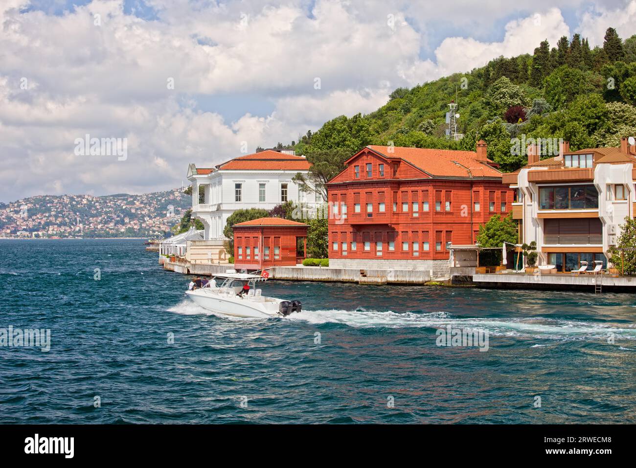
[[[191,162],[635,20],[636,0],[0,0],[0,202],[181,187]]]

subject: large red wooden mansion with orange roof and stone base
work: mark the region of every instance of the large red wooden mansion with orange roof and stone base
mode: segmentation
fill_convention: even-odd
[[[451,244],[473,244],[513,190],[476,152],[366,146],[328,183],[329,266],[449,271]]]

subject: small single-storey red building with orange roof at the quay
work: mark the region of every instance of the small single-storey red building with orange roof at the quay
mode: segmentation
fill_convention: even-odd
[[[283,218],[258,218],[235,224],[235,267],[261,270],[302,262],[307,257],[307,228],[307,224]]]

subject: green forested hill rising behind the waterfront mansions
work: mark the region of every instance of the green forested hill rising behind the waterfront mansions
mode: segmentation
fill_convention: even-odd
[[[464,134],[457,142],[445,138],[456,90]],[[564,36],[555,45],[543,41],[533,55],[499,57],[469,73],[396,89],[377,111],[336,117],[290,147],[314,162],[337,155],[341,164],[369,144],[474,151],[484,139],[488,157],[515,171],[527,157],[511,154],[511,138],[563,138],[573,150],[618,146],[621,136],[636,135],[634,104],[636,35],[623,41],[609,28],[602,47]]]

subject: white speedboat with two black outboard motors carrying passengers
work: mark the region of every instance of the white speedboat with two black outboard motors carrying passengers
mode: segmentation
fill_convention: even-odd
[[[266,281],[257,274],[228,273],[216,274],[204,287],[186,291],[195,304],[222,315],[235,317],[268,318],[280,317],[300,312],[300,301],[286,301],[262,294],[256,284]],[[249,290],[245,291],[245,285]]]

